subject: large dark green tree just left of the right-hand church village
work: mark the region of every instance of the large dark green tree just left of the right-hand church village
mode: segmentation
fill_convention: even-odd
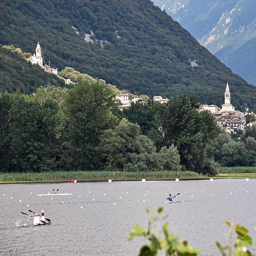
[[[199,99],[192,95],[172,98],[156,114],[162,145],[174,144],[179,150],[181,164],[187,170],[207,172],[207,144],[218,134],[209,112],[199,112]]]

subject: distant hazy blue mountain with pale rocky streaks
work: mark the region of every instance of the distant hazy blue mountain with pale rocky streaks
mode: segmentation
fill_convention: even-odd
[[[254,0],[154,0],[233,72],[256,85]]]

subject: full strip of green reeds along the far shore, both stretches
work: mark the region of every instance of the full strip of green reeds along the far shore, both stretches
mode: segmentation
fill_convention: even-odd
[[[214,178],[256,177],[256,167],[220,167],[219,174]],[[200,175],[192,171],[54,171],[54,172],[0,172],[0,183],[39,183],[65,182],[72,179],[77,181],[104,180],[174,180],[179,179],[207,179],[207,175]]]

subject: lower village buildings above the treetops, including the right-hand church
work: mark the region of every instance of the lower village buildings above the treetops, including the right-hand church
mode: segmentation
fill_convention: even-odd
[[[228,133],[236,133],[236,130],[244,130],[246,127],[246,118],[245,114],[239,110],[236,110],[234,106],[231,104],[231,94],[229,90],[229,84],[226,84],[225,90],[225,103],[221,105],[221,108],[218,108],[216,105],[201,105],[199,112],[203,110],[208,110],[214,117],[214,120],[219,127],[225,127]],[[116,101],[120,102],[119,108],[125,109],[131,106],[131,102],[141,102],[144,103],[142,98],[133,98],[129,100],[129,94],[117,94],[115,97]],[[168,98],[162,98],[161,96],[154,96],[153,100],[155,102],[167,103]],[[251,115],[255,115],[254,113],[250,113]],[[256,122],[251,122],[247,124],[248,126],[256,125]]]

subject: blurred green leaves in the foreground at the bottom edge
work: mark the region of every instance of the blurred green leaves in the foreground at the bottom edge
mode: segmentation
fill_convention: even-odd
[[[158,208],[155,212],[146,210],[150,216],[148,228],[143,229],[139,225],[134,225],[131,229],[130,240],[134,237],[144,237],[149,243],[143,245],[139,251],[139,256],[156,256],[159,251],[164,251],[167,256],[194,256],[199,255],[201,250],[188,245],[187,241],[181,242],[178,237],[168,231],[168,224],[163,224],[163,236],[160,232],[157,222],[164,220],[167,216],[161,217],[163,208]],[[226,221],[229,226],[228,245],[222,246],[219,242],[216,243],[218,250],[222,256],[253,256],[248,247],[253,244],[253,238],[249,236],[248,230],[240,226]],[[234,230],[237,234],[236,242],[233,244],[232,236]]]

